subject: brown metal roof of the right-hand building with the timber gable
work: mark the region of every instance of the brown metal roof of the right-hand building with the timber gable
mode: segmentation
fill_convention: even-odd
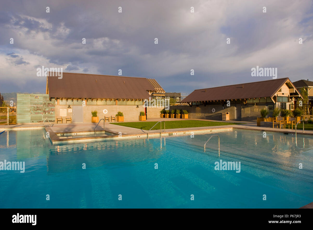
[[[181,102],[272,97],[288,80],[289,78],[280,78],[207,89],[196,89]],[[290,80],[289,83],[291,84]]]

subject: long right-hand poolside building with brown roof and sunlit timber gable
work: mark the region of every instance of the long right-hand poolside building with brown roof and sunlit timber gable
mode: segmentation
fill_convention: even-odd
[[[280,78],[196,89],[181,101],[189,106],[181,107],[189,110],[189,118],[222,120],[222,112],[229,112],[230,120],[256,121],[262,109],[270,116],[276,107],[290,109],[299,97],[290,79]]]

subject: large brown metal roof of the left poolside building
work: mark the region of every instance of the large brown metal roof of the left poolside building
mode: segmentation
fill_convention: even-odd
[[[146,78],[97,74],[63,73],[63,78],[48,76],[49,97],[148,99],[155,88]]]

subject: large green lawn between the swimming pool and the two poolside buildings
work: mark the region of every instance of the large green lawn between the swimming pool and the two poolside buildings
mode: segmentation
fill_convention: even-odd
[[[144,122],[116,122],[111,123],[114,125],[121,125],[136,129],[150,130],[156,121]],[[169,120],[165,121],[165,129],[179,129],[179,128],[192,128],[192,127],[205,127],[205,126],[219,126],[219,125],[239,125],[239,123],[218,122],[218,121],[202,121],[202,120]],[[298,128],[298,126],[297,126]],[[160,123],[154,126],[153,130],[160,129]],[[162,129],[164,124],[162,122]]]

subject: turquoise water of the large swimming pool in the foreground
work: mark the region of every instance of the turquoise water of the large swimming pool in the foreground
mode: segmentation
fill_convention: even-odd
[[[296,146],[295,137],[279,133],[217,134],[219,156],[215,137],[203,152],[212,133],[52,146],[44,130],[6,131],[0,161],[25,161],[25,172],[0,171],[0,208],[299,208],[313,202],[313,138],[298,136]],[[220,160],[240,161],[240,173],[215,170]]]

